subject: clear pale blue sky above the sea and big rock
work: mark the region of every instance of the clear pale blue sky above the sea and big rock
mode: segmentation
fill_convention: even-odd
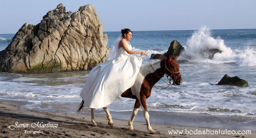
[[[256,28],[256,0],[1,0],[0,34],[39,24],[60,3],[66,12],[93,4],[104,32]]]

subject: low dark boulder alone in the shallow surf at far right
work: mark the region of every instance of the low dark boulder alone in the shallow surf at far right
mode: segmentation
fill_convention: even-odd
[[[240,79],[238,76],[230,77],[225,74],[217,85],[233,85],[238,87],[247,87],[248,82],[246,80]]]

